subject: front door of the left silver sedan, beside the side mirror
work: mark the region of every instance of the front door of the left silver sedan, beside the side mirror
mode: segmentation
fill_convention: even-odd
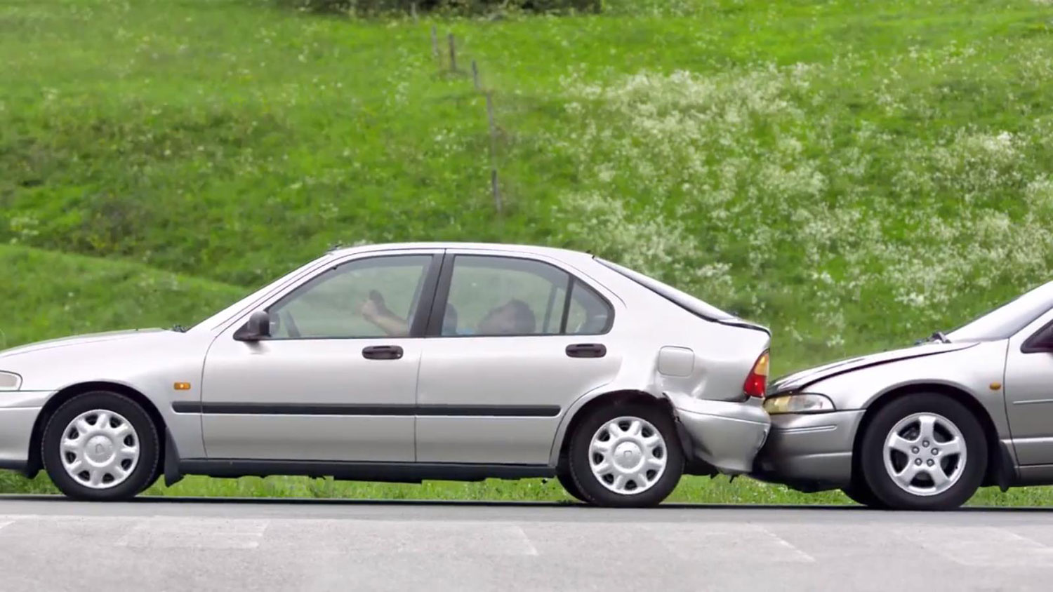
[[[272,335],[204,364],[211,458],[414,461],[417,371],[441,251],[358,257],[264,305]],[[384,312],[384,322],[378,312]]]

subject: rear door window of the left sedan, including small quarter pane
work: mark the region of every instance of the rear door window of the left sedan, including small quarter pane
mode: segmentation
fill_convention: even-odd
[[[457,256],[442,334],[553,335],[596,326],[601,330],[592,332],[599,333],[611,318],[610,305],[602,298],[553,265],[529,259]]]

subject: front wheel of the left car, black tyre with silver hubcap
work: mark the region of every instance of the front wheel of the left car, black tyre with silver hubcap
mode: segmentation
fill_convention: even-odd
[[[159,463],[157,428],[136,402],[113,392],[75,396],[49,417],[41,442],[48,476],[79,499],[126,499]]]

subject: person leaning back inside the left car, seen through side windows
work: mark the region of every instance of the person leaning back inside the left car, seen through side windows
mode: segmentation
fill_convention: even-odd
[[[410,324],[391,311],[384,304],[380,292],[373,290],[370,298],[362,303],[362,318],[373,323],[391,336],[406,336],[410,334]],[[475,330],[457,328],[457,310],[446,305],[446,314],[442,320],[443,335],[529,335],[534,333],[537,319],[530,305],[512,299],[504,304],[491,309]]]

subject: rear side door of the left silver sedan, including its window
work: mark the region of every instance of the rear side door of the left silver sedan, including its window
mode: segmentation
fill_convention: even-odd
[[[602,291],[556,261],[448,251],[421,353],[417,460],[548,464],[568,406],[620,366]]]

